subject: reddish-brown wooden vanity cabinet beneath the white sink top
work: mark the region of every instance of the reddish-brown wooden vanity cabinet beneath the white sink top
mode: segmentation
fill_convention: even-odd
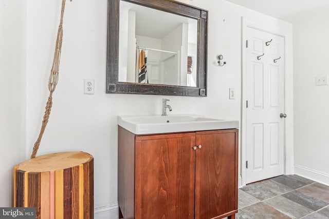
[[[237,129],[135,135],[119,126],[120,218],[235,218],[237,136]]]

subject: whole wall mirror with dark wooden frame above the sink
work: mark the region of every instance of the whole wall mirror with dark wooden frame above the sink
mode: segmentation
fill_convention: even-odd
[[[207,16],[170,0],[109,0],[106,92],[206,96]]]

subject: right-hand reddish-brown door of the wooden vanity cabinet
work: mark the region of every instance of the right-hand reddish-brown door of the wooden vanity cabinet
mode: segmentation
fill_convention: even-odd
[[[196,145],[195,218],[228,216],[237,209],[237,130],[197,132]]]

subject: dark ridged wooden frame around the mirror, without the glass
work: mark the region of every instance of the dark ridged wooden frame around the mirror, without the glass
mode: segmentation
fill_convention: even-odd
[[[196,87],[138,84],[118,81],[120,1],[197,19]],[[207,96],[208,11],[173,0],[108,0],[106,93]]]

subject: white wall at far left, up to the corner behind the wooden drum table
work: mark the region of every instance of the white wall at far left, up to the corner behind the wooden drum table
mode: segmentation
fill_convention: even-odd
[[[0,206],[13,203],[13,168],[25,160],[26,1],[0,4]]]

